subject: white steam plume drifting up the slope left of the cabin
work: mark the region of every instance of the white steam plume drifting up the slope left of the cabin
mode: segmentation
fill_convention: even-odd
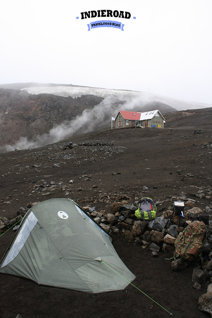
[[[147,100],[145,100],[145,103]],[[111,128],[111,118],[116,117],[118,111],[134,110],[138,105],[144,104],[141,96],[137,96],[133,100],[128,100],[122,105],[118,105],[117,100],[113,98],[105,98],[100,104],[92,109],[85,109],[81,115],[77,116],[72,121],[65,121],[61,125],[53,127],[49,133],[37,135],[32,140],[27,137],[21,137],[15,144],[6,145],[1,148],[1,151],[12,151],[15,149],[30,149],[42,147],[60,140],[64,140],[74,135],[84,134],[99,128]],[[134,108],[134,109],[133,109]]]

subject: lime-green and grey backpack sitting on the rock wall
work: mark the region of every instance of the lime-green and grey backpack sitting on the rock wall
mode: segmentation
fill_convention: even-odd
[[[144,221],[152,221],[156,216],[157,207],[151,198],[143,197],[137,202],[138,209],[135,211],[137,218],[142,218]]]

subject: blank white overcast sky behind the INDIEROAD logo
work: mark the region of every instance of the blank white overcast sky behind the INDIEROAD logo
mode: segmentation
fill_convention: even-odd
[[[102,9],[130,12],[113,18],[124,31],[88,31],[88,23],[112,18],[82,20],[80,12]],[[211,0],[4,1],[0,84],[64,83],[212,104],[211,13]]]

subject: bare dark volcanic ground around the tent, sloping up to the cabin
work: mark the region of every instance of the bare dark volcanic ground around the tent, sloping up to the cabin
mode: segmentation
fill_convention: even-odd
[[[212,220],[212,135],[206,122],[211,122],[211,111],[168,113],[169,128],[99,129],[37,149],[1,153],[0,216],[14,219],[31,204],[55,197],[95,206],[106,215],[113,203],[135,204],[147,196],[158,202],[157,216],[172,209],[174,200],[189,198]],[[195,134],[194,127],[201,132]],[[1,256],[13,235],[10,229],[1,236]],[[123,318],[165,317],[168,312],[181,318],[210,317],[197,305],[208,282],[192,288],[194,267],[174,272],[165,260],[173,254],[161,250],[153,258],[123,231],[111,235],[120,258],[136,275],[133,284],[162,308],[131,285],[122,291],[86,294],[2,274],[2,318],[18,313],[23,318],[68,318],[70,310],[75,318],[106,318],[118,312]]]

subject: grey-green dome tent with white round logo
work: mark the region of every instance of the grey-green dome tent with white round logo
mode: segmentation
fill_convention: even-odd
[[[64,198],[46,200],[27,211],[0,262],[0,272],[88,293],[121,290],[135,279],[110,235],[78,204]]]

